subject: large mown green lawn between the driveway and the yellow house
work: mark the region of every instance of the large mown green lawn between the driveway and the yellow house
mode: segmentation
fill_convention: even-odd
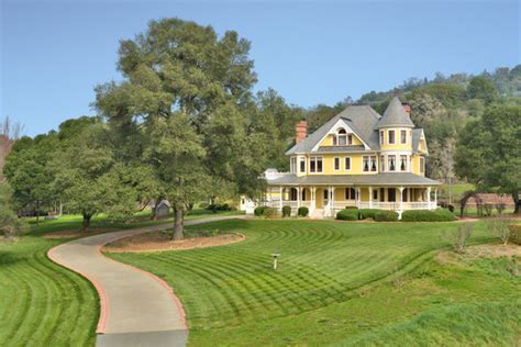
[[[411,345],[509,344],[521,336],[519,277],[484,266],[488,260],[434,261],[447,246],[441,232],[456,225],[224,221],[203,228],[246,240],[110,256],[174,288],[193,346],[393,345],[403,334]],[[484,223],[475,226],[472,243],[491,240]],[[277,271],[271,253],[281,254]]]

